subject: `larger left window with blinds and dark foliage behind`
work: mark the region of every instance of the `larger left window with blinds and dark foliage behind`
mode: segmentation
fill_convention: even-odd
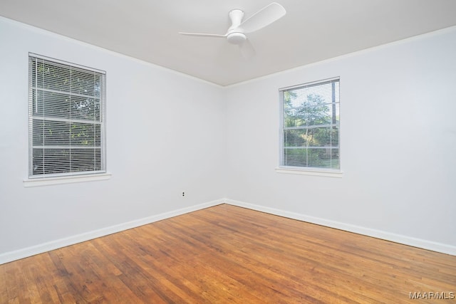
[[[28,56],[29,177],[105,172],[105,72]]]

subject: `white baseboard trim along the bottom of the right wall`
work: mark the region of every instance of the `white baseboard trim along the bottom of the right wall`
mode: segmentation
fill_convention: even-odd
[[[297,219],[299,221],[306,221],[312,224],[318,224],[321,226],[327,226],[335,229],[353,232],[356,234],[362,234],[365,236],[372,236],[377,239],[383,239],[386,241],[393,241],[395,243],[402,243],[404,245],[423,248],[431,251],[437,251],[440,253],[450,254],[456,256],[456,246],[447,245],[445,243],[437,243],[434,241],[427,241],[423,239],[416,239],[410,236],[403,236],[400,234],[392,234],[387,231],[381,231],[376,229],[370,229],[363,226],[356,226],[352,224],[345,224],[339,221],[331,221],[328,219],[321,219],[314,216],[307,216],[305,214],[297,214],[290,211],[284,211],[280,209],[269,208],[266,206],[260,206],[256,204],[249,204],[244,201],[235,201],[233,199],[224,199],[226,204],[233,206],[244,207],[256,211],[266,212],[268,214],[274,214],[278,216],[284,216],[289,219]]]

